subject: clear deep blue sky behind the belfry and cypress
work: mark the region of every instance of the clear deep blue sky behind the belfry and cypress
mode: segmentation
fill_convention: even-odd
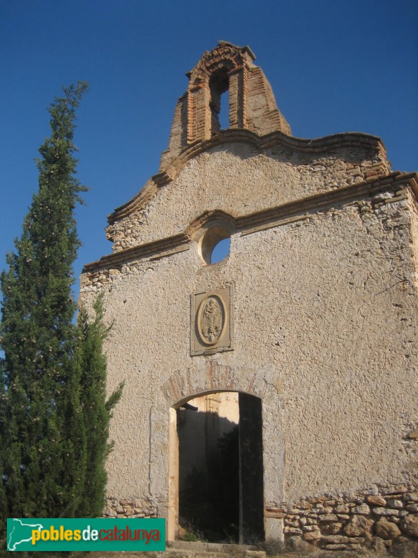
[[[249,45],[297,137],[382,137],[418,169],[415,0],[0,0],[0,268],[38,186],[33,158],[61,87],[89,82],[78,112],[75,265],[111,252],[108,213],[158,172],[185,73],[218,40]]]

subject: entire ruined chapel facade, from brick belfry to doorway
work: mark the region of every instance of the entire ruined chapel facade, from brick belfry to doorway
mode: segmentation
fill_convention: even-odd
[[[292,137],[254,60],[203,54],[82,272],[125,380],[104,515],[167,518],[169,540],[416,538],[417,174],[375,136]]]

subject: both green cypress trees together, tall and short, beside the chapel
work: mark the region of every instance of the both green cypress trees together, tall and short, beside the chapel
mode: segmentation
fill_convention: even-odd
[[[80,246],[74,209],[87,190],[75,177],[73,134],[86,90],[82,82],[64,88],[50,106],[38,193],[0,278],[0,534],[7,517],[99,515],[103,503],[120,391],[106,401],[103,301],[92,324],[82,311],[75,326],[71,290]]]

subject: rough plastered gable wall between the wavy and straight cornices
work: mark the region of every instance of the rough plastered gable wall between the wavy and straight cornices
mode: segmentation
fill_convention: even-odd
[[[216,146],[188,161],[175,181],[159,188],[147,206],[107,227],[107,234],[115,251],[130,248],[184,232],[204,211],[233,216],[262,211],[362,182],[373,165],[382,164],[387,164],[382,153],[364,146],[324,154],[280,146],[260,153],[244,143]]]

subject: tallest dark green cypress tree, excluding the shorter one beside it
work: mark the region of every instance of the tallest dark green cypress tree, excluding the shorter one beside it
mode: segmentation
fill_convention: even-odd
[[[15,252],[7,256],[8,271],[1,273],[8,410],[1,437],[9,449],[3,463],[9,517],[48,517],[67,504],[58,409],[72,374],[76,338],[71,286],[80,241],[74,208],[86,188],[74,176],[73,133],[86,89],[83,83],[64,89],[49,109],[52,135],[39,149],[39,190]]]

